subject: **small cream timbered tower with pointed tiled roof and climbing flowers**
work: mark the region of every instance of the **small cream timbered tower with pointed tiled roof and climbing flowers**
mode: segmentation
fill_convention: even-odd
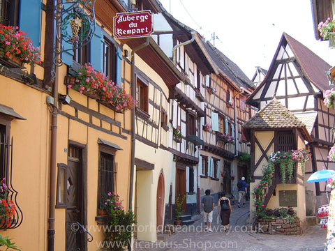
[[[251,188],[260,185],[262,170],[272,161],[269,159],[271,153],[305,149],[305,142],[312,142],[306,125],[276,98],[244,123],[243,128],[251,141]],[[292,206],[301,220],[301,228],[304,229],[306,200],[303,168],[300,165],[295,165],[292,178],[281,176],[281,167],[274,165],[271,186],[266,190],[262,206],[271,209]],[[251,203],[251,222],[255,217],[255,210]]]

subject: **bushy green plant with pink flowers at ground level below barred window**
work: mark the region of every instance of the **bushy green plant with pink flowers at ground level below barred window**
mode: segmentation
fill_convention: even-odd
[[[101,201],[101,207],[107,212],[107,227],[105,227],[104,248],[108,250],[124,250],[121,245],[110,247],[110,243],[124,243],[129,245],[128,240],[134,231],[135,215],[133,211],[124,211],[119,195],[108,192]]]

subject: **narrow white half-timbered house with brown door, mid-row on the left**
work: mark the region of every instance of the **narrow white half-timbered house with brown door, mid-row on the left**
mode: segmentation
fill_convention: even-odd
[[[171,57],[173,63],[186,79],[170,92],[172,140],[170,203],[177,198],[184,200],[183,209],[188,214],[197,213],[200,208],[199,160],[201,139],[201,119],[204,114],[204,96],[207,95],[205,82],[209,74],[217,73],[204,48],[201,37],[193,29],[175,20],[158,3],[161,13],[155,17],[153,38],[162,50]],[[180,133],[176,137],[177,133]],[[171,209],[167,204],[167,209]],[[173,213],[165,213],[165,222],[173,220]]]

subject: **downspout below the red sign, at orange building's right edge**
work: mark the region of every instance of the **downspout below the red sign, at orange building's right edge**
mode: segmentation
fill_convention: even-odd
[[[149,37],[142,45],[134,48],[131,52],[131,96],[135,98],[136,82],[135,82],[135,52],[143,49],[149,45]],[[129,210],[133,211],[133,190],[134,190],[134,176],[135,176],[135,108],[131,109],[131,180],[129,191]]]

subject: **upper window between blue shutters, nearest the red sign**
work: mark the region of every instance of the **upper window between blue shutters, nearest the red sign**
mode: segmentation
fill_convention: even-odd
[[[105,43],[103,43],[103,73],[108,76],[112,81],[117,80],[117,47],[104,38]]]

